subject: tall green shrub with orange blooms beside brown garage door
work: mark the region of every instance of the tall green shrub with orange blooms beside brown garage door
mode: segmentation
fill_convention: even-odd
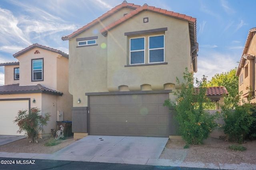
[[[196,79],[198,88],[194,88],[194,77],[192,72],[183,73],[184,82],[176,78],[176,82],[181,85],[181,90],[174,92],[178,98],[176,103],[171,100],[166,100],[164,106],[174,106],[175,119],[178,121],[179,130],[182,138],[187,144],[198,145],[202,144],[204,139],[207,139],[217,127],[214,119],[218,114],[210,115],[204,110],[204,103],[209,99],[206,97],[206,79],[202,81]]]

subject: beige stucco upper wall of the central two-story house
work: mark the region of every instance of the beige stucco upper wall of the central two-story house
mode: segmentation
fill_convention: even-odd
[[[100,33],[100,29],[127,14],[127,10],[130,11],[122,8],[108,19],[96,23],[69,40],[69,92],[73,95],[74,107],[88,106],[86,92],[163,90],[165,84],[172,84],[172,89],[179,88],[176,85],[176,76],[182,81],[185,68],[192,70],[187,21],[145,11],[111,29],[106,37]],[[149,18],[148,23],[143,23],[145,17]],[[168,31],[164,33],[165,62],[168,64],[124,67],[129,59],[129,37],[124,36],[124,33],[162,27],[168,27]],[[98,36],[97,46],[76,47],[76,38],[92,36]],[[77,103],[78,98],[81,99],[80,104]]]

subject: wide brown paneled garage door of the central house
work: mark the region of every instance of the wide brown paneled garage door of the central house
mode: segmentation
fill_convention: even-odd
[[[169,136],[169,94],[90,96],[89,134]]]

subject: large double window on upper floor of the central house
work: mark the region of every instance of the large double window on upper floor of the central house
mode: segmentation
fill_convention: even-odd
[[[149,36],[148,45],[145,44],[145,37],[130,39],[130,64],[145,64],[145,50],[148,63],[163,63],[164,35]]]

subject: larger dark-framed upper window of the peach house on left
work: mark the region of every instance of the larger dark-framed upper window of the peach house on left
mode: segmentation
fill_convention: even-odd
[[[43,80],[43,59],[32,60],[32,80]]]

